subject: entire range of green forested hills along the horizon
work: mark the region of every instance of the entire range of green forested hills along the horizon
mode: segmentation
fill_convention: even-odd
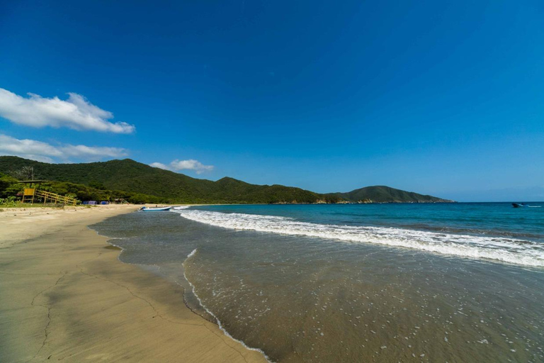
[[[111,160],[82,164],[48,164],[21,157],[1,156],[0,173],[11,174],[33,167],[35,179],[75,184],[71,190],[90,187],[94,193],[108,191],[133,202],[151,203],[336,203],[436,202],[433,196],[410,193],[387,186],[368,186],[349,193],[318,194],[283,185],[255,185],[232,178],[217,181],[196,179],[184,174],[150,167],[134,160]],[[65,186],[63,186],[65,187]],[[90,192],[90,191],[89,191]]]

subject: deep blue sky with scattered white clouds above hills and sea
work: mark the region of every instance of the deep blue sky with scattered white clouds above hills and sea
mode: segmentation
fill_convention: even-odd
[[[540,1],[135,4],[0,4],[0,153],[544,200]]]

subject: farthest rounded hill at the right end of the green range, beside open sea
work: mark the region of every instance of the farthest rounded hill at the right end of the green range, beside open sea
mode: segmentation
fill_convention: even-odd
[[[346,201],[357,203],[359,201],[371,201],[373,203],[439,203],[451,202],[447,199],[436,198],[436,196],[427,196],[417,194],[412,191],[404,191],[391,188],[390,186],[365,186],[365,188],[355,189],[348,193],[333,193],[331,196],[338,196]]]

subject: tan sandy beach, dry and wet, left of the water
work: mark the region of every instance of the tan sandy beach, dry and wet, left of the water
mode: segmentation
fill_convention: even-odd
[[[266,362],[87,228],[136,209],[0,212],[0,362]]]

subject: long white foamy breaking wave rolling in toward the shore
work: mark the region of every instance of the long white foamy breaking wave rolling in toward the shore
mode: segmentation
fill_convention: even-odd
[[[434,233],[403,228],[328,225],[292,218],[245,213],[178,210],[183,218],[235,230],[255,230],[284,235],[304,235],[346,242],[377,243],[443,255],[491,259],[511,264],[544,267],[544,245],[514,238]]]

